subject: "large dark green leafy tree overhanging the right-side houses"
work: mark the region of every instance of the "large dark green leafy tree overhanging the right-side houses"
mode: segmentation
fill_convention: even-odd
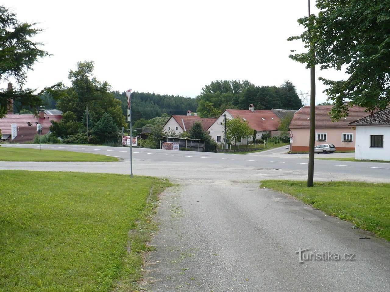
[[[317,0],[316,7],[318,16],[298,19],[305,31],[288,39],[302,40],[306,48],[312,43],[315,59],[309,52],[290,58],[308,68],[346,68],[346,80],[319,78],[334,101],[333,118],[348,114],[345,100],[370,111],[384,109],[390,103],[390,0]]]

